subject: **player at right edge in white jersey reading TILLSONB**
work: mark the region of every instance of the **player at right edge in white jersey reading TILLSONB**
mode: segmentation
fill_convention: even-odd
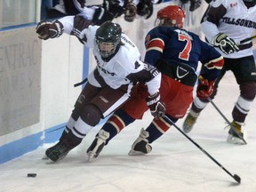
[[[228,142],[235,144],[244,143],[241,140],[244,137],[242,126],[256,94],[256,68],[252,56],[252,41],[236,44],[256,32],[255,4],[256,0],[212,1],[202,20],[202,30],[208,42],[216,47],[225,60],[224,67],[214,85],[211,99],[216,95],[218,84],[228,70],[233,72],[240,88],[240,95],[232,111],[231,124],[236,131],[230,128],[227,139]],[[209,100],[195,98],[183,124],[184,132],[192,130],[196,118],[208,103]]]

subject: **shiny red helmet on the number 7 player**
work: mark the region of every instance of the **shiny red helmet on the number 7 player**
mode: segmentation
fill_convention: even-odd
[[[185,12],[177,5],[169,5],[159,10],[156,15],[156,26],[176,26],[183,28]]]

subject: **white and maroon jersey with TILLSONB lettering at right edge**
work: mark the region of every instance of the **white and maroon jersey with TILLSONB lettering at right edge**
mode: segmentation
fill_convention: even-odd
[[[201,28],[209,42],[213,36],[224,33],[239,44],[256,32],[256,6],[247,8],[243,0],[214,0],[204,14]],[[228,55],[218,51],[226,58],[252,55],[252,41],[241,44],[239,48],[239,52]]]

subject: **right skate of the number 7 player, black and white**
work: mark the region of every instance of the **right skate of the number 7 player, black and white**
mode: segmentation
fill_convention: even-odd
[[[149,133],[143,128],[140,131],[140,136],[132,144],[132,149],[129,151],[129,156],[141,156],[151,152],[152,147],[148,144]]]

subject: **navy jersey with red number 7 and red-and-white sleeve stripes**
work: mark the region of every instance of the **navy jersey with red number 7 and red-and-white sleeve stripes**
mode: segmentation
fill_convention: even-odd
[[[201,61],[204,77],[209,80],[219,75],[223,65],[223,58],[212,45],[183,28],[153,28],[146,36],[145,46],[145,61],[149,64],[156,66],[160,60],[171,65],[174,62],[183,63],[194,68],[196,72],[198,61]]]

